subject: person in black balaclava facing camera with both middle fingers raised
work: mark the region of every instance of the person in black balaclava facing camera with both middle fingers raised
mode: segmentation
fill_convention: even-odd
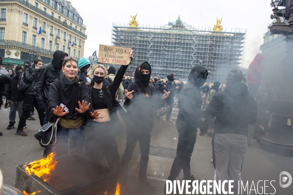
[[[124,107],[131,119],[126,132],[126,149],[121,159],[122,176],[127,177],[128,161],[132,158],[137,141],[140,144],[141,159],[138,183],[154,190],[155,186],[146,180],[146,168],[150,148],[150,132],[154,126],[153,112],[166,103],[166,91],[163,97],[158,97],[154,86],[149,84],[151,67],[147,61],[140,63],[135,70],[135,81],[128,85]],[[124,181],[127,179],[125,178]],[[126,185],[122,185],[126,186]]]

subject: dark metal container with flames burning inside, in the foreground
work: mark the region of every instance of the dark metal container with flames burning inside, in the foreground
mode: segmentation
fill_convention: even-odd
[[[36,195],[115,195],[117,174],[77,154],[18,165],[15,186]]]

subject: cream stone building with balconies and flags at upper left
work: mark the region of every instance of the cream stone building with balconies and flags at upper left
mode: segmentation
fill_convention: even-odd
[[[0,0],[0,56],[3,63],[49,63],[56,50],[84,56],[86,26],[65,0]]]

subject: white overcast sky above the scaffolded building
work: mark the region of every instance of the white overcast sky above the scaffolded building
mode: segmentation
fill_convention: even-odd
[[[263,34],[272,22],[270,0],[70,0],[84,24],[84,57],[88,58],[100,44],[111,44],[113,22],[131,20],[137,14],[138,23],[167,24],[178,16],[183,22],[198,27],[213,27],[216,17],[224,28],[246,28],[244,67],[248,68],[263,43]]]

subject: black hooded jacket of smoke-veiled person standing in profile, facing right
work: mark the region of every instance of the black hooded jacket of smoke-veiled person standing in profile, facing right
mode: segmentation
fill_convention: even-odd
[[[181,91],[178,99],[179,113],[176,121],[177,130],[181,127],[196,129],[201,125],[202,96],[199,87],[202,86],[207,77],[208,70],[203,66],[195,66],[188,75],[188,83]]]

